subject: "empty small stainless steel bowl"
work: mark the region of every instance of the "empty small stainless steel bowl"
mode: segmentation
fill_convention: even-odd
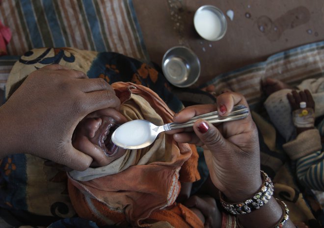
[[[170,48],[163,56],[165,78],[178,87],[193,85],[200,75],[200,61],[196,54],[184,46]]]

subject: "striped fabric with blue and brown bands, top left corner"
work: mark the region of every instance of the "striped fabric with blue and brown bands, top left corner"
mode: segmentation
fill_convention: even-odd
[[[9,55],[74,47],[147,59],[132,0],[2,0],[0,21],[12,31]]]

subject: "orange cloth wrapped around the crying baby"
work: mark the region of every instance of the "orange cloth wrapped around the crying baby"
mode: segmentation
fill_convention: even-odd
[[[164,123],[172,121],[173,112],[149,88],[132,83],[115,83],[112,86],[121,103],[130,99],[131,94],[140,95],[162,117]],[[177,215],[169,217],[170,224],[181,219],[188,227],[203,227],[199,218],[188,208],[174,204],[181,187],[179,173],[180,179],[186,182],[200,178],[198,153],[194,146],[177,143],[169,135],[165,135],[165,144],[165,148],[171,150],[168,162],[133,165],[124,171],[89,181],[78,181],[69,176],[69,195],[79,216],[99,225],[128,222],[132,226],[146,227],[149,224],[145,224],[145,221],[152,212],[157,216],[165,211],[163,208],[171,211],[174,208],[174,211],[181,209],[182,213],[168,212]],[[187,218],[188,214],[192,216],[190,219]]]

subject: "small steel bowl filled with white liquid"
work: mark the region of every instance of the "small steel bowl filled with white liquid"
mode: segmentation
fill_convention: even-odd
[[[209,41],[220,40],[227,30],[224,13],[214,5],[199,7],[193,16],[193,24],[197,33]]]

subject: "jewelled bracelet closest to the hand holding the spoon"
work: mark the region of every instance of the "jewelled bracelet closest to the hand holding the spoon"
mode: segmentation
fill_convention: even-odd
[[[233,215],[242,215],[259,209],[261,206],[266,204],[273,194],[273,184],[267,173],[262,170],[261,173],[263,176],[262,186],[250,199],[246,199],[243,202],[229,203],[224,200],[226,197],[221,191],[219,191],[220,203],[224,209]]]

